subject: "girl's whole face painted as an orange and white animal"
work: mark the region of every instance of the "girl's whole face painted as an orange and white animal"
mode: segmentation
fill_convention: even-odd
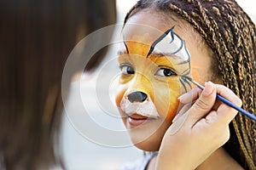
[[[142,150],[159,149],[177,114],[178,96],[192,86],[183,77],[204,82],[210,70],[210,54],[189,24],[165,17],[152,9],[132,15],[119,49],[116,105],[132,142]],[[170,41],[160,38],[170,28]]]

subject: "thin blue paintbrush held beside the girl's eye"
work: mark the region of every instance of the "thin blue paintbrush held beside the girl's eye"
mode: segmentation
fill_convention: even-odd
[[[191,77],[186,77],[189,82],[192,82],[193,84],[195,84],[198,88],[201,88],[202,90],[205,88],[204,86],[202,86],[200,83],[195,82],[195,80],[193,80]],[[240,111],[241,114],[248,116],[249,118],[253,119],[254,121],[256,121],[256,116],[254,116],[252,113],[243,110],[241,107],[233,104],[232,102],[230,102],[230,100],[225,99],[223,96],[217,94],[216,98],[220,101],[222,101],[224,104],[229,105],[230,107],[236,109],[236,111]]]

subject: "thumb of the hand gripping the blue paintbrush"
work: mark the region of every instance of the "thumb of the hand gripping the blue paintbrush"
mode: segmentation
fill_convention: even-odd
[[[216,86],[212,82],[206,82],[199,98],[195,101],[195,104],[189,109],[188,121],[192,124],[198,122],[202,117],[206,116],[216,100]]]

